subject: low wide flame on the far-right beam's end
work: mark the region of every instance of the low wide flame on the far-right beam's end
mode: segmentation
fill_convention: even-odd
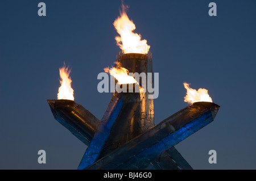
[[[184,96],[184,102],[212,102],[207,89],[200,88],[199,90],[191,89],[188,83],[183,83],[185,89],[187,89],[187,95]]]

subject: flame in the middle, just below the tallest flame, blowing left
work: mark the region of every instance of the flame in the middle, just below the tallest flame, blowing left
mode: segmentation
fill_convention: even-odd
[[[138,83],[133,76],[128,75],[129,70],[122,68],[119,62],[115,62],[115,68],[105,68],[104,71],[117,79],[118,84]]]

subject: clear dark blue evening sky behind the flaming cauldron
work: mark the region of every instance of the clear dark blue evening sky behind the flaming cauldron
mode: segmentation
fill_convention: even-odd
[[[38,3],[47,16],[38,16]],[[209,3],[217,16],[209,16]],[[176,145],[193,169],[256,169],[256,2],[125,1],[159,73],[155,123],[188,104],[183,82],[208,89],[216,119]],[[120,51],[121,1],[0,2],[0,169],[77,169],[86,146],[52,115],[59,68],[72,68],[75,101],[101,119],[110,93],[97,75]],[[38,150],[46,150],[46,164]],[[217,151],[209,164],[208,151]]]

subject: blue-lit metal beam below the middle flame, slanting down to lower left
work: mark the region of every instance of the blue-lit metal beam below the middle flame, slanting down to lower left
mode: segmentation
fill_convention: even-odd
[[[84,169],[97,161],[99,155],[102,154],[102,148],[104,148],[104,145],[112,132],[112,127],[115,121],[121,120],[123,123],[129,123],[133,118],[134,112],[137,110],[140,101],[139,92],[115,92],[101,119],[97,132],[94,134],[90,145],[82,157],[78,168],[79,170]],[[122,130],[122,128],[120,129]],[[120,137],[122,134],[118,134],[118,136]]]

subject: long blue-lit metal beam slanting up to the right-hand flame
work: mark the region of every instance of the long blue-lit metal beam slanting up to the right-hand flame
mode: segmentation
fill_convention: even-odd
[[[209,102],[193,103],[86,169],[143,169],[152,159],[211,123],[219,108]]]

